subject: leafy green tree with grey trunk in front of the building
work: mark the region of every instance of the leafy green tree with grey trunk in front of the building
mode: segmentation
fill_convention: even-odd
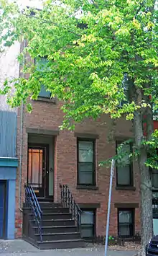
[[[44,84],[65,104],[61,128],[74,128],[84,118],[126,116],[134,126],[134,156],[141,176],[141,252],[152,237],[152,175],[157,168],[158,109],[157,9],[155,0],[52,0],[43,9],[1,3],[1,50],[15,40],[27,41],[29,79],[6,81],[1,93],[12,107],[23,101],[31,111]],[[45,67],[37,68],[47,56]],[[10,83],[16,91],[10,96]]]

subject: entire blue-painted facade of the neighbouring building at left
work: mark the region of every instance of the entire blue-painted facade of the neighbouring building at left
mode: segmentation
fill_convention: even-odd
[[[4,237],[6,239],[14,239],[15,231],[15,193],[18,166],[16,147],[17,113],[0,111],[0,181],[6,182],[6,236]]]

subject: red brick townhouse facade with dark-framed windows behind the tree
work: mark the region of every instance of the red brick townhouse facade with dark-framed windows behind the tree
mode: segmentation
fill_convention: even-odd
[[[133,137],[131,122],[121,119],[113,125],[108,116],[102,116],[83,121],[75,131],[60,131],[61,106],[42,87],[38,100],[32,101],[31,114],[24,106],[18,110],[17,237],[22,237],[27,183],[34,187],[39,200],[55,203],[60,202],[60,183],[68,185],[83,211],[83,237],[106,233],[110,169],[98,164],[116,154],[121,142]],[[130,146],[126,150],[130,151]],[[109,234],[130,237],[140,232],[139,207],[138,167],[127,159],[126,167],[118,167],[113,178]]]

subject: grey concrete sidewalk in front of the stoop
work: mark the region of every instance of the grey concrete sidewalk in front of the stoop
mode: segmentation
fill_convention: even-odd
[[[107,256],[133,256],[134,251],[108,251]],[[1,241],[0,256],[104,256],[104,248],[40,251],[23,240]]]

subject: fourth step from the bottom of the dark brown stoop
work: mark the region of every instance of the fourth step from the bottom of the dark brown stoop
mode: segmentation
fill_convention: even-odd
[[[35,221],[32,219],[30,220],[30,222],[32,223],[32,226],[34,226]],[[73,221],[73,219],[42,220],[42,226],[73,226],[73,225],[75,225],[75,221]]]

